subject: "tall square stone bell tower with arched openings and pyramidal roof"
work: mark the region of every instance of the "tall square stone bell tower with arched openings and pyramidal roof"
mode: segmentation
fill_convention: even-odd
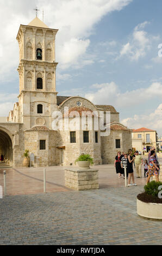
[[[51,129],[52,113],[57,109],[55,86],[55,35],[38,17],[27,26],[20,25],[17,41],[20,48],[20,122],[25,129],[47,126]]]

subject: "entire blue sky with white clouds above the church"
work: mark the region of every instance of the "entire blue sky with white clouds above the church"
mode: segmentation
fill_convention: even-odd
[[[0,116],[17,102],[16,35],[34,19],[35,7],[39,19],[44,10],[45,24],[59,29],[58,95],[113,105],[123,125],[162,136],[160,0],[1,0]]]

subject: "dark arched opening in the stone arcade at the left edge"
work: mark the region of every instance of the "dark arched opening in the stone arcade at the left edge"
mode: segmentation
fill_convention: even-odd
[[[8,133],[0,129],[0,155],[3,154],[10,164],[13,163],[13,143]]]

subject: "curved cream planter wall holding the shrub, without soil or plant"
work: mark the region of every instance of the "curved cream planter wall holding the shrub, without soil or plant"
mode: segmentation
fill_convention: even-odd
[[[144,203],[136,199],[137,213],[140,217],[149,220],[162,221],[162,204]]]

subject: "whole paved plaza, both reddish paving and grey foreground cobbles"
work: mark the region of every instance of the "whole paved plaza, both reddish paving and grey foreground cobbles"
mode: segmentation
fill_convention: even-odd
[[[0,245],[161,245],[162,222],[136,214],[136,195],[146,179],[124,187],[112,164],[95,168],[99,190],[78,192],[64,186],[65,167],[47,167],[46,194],[43,168],[8,168]]]

